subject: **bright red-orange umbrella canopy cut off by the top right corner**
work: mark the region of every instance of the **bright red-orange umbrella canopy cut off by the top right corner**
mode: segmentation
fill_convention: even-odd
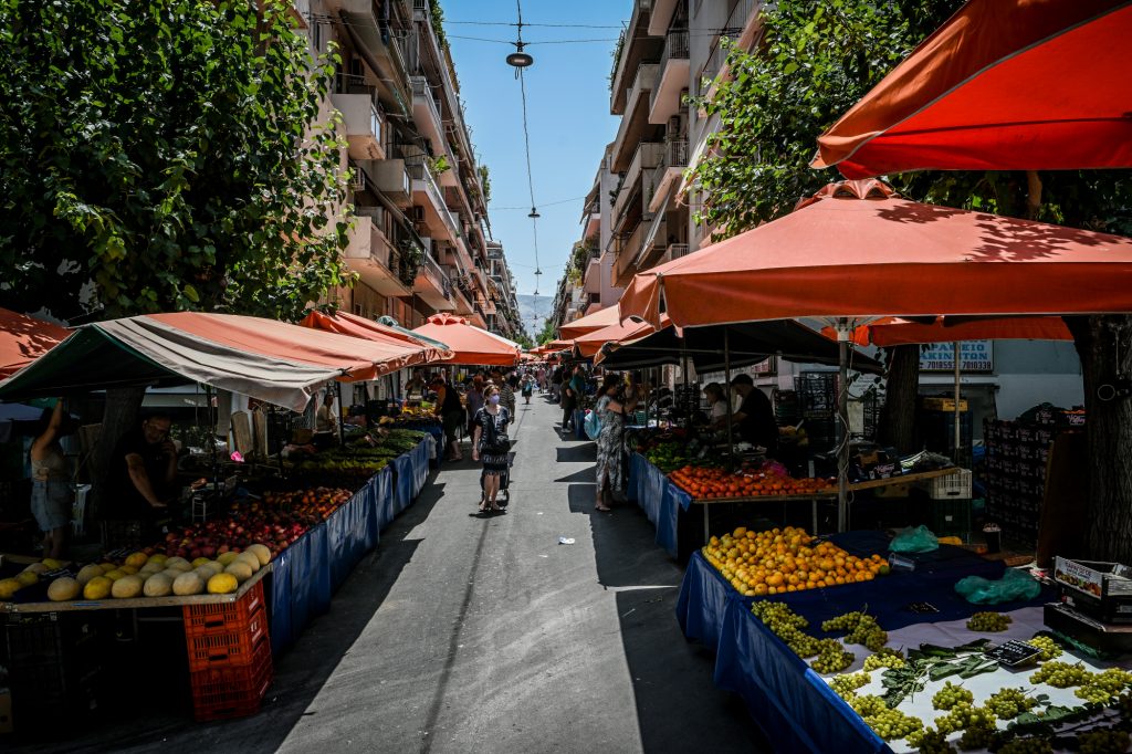
[[[818,139],[815,168],[1132,166],[1132,2],[971,0]]]

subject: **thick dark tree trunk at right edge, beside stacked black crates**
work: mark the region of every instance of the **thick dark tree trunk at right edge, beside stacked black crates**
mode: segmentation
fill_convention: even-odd
[[[1096,560],[1132,563],[1132,317],[1065,317],[1081,358],[1089,468],[1080,492]],[[1115,395],[1113,392],[1115,391]],[[1082,479],[1082,481],[1086,481]]]

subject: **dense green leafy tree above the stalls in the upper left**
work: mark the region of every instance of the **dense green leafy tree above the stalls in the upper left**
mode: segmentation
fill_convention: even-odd
[[[289,5],[0,0],[7,306],[295,319],[349,282],[335,60]]]

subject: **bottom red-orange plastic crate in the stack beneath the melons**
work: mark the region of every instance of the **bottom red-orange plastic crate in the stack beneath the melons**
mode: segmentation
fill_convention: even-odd
[[[220,666],[189,674],[198,722],[255,714],[272,685],[272,643],[265,635],[248,665]]]

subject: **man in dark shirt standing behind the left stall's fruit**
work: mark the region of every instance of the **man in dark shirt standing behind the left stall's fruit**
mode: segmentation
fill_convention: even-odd
[[[109,517],[154,519],[166,507],[177,479],[171,426],[168,415],[155,414],[118,440],[105,498]]]

